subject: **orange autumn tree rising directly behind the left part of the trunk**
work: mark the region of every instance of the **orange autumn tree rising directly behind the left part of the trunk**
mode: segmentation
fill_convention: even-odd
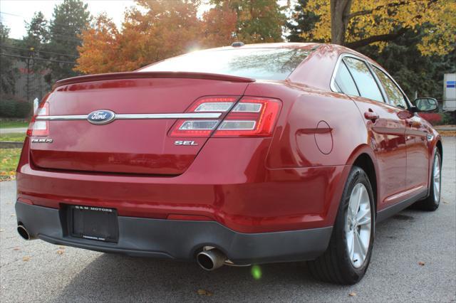
[[[197,1],[137,0],[125,12],[122,31],[108,16],[82,33],[76,70],[107,73],[135,70],[149,63],[179,55],[195,47],[202,23]]]

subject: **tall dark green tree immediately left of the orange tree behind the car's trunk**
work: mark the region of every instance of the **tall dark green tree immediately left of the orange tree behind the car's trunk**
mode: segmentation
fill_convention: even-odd
[[[74,61],[78,58],[78,46],[81,46],[81,33],[88,28],[91,17],[88,5],[81,0],[64,0],[56,5],[53,19],[49,26],[48,50],[63,55],[53,55],[53,60]],[[78,75],[74,64],[51,63],[50,81]]]

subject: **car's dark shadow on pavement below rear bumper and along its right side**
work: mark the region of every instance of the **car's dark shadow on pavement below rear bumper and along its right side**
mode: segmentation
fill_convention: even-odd
[[[413,220],[419,213],[422,212],[408,209],[377,226],[371,267],[360,284],[373,282],[370,272],[381,267],[378,262],[388,255],[388,243],[406,239],[408,220]],[[393,236],[391,229],[398,232]],[[259,268],[261,275],[255,278],[252,267],[224,266],[207,272],[196,262],[102,254],[73,277],[56,297],[56,302],[233,301],[235,298],[264,302],[294,297],[294,292],[295,295],[299,293],[301,299],[318,300],[316,294],[328,295],[334,291],[333,299],[340,300],[336,293],[350,289],[314,280],[305,262],[266,264],[259,265]],[[199,289],[202,289],[202,295],[198,294]]]

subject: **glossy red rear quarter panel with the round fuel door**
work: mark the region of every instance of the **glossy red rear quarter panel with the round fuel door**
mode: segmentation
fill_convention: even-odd
[[[246,95],[284,103],[266,158],[269,169],[351,164],[357,149],[368,147],[366,124],[346,95],[289,82],[253,83]]]

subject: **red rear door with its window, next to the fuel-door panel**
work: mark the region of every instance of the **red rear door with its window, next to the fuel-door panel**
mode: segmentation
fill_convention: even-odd
[[[341,92],[356,102],[365,119],[369,144],[375,153],[379,170],[380,210],[399,201],[398,193],[405,189],[405,119],[399,117],[398,108],[384,102],[373,73],[361,58],[343,56],[338,64],[335,83]]]

